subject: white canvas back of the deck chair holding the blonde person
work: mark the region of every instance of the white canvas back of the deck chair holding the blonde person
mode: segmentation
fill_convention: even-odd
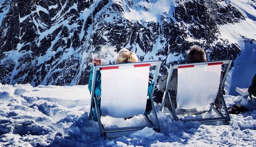
[[[150,65],[119,65],[101,69],[101,113],[112,117],[143,114]]]

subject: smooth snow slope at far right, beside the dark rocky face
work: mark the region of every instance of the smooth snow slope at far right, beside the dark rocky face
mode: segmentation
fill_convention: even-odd
[[[248,88],[256,74],[256,4],[251,0],[231,1],[230,4],[245,17],[245,20],[239,23],[220,26],[220,38],[238,44],[241,48],[241,53],[234,60],[226,81],[228,94],[237,96],[236,87]]]

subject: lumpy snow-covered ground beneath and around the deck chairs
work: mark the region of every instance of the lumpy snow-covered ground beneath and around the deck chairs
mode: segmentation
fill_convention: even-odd
[[[129,136],[104,140],[98,124],[88,120],[87,85],[0,84],[0,146],[255,146],[255,100],[228,95],[225,100],[228,106],[241,103],[250,111],[230,114],[230,125],[183,123],[174,121],[155,104],[160,133],[144,128]],[[142,116],[126,121],[103,117],[103,124],[107,127],[138,125],[144,124],[144,120]]]

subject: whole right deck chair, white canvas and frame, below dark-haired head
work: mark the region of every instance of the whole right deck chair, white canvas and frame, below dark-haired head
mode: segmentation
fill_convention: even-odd
[[[170,84],[170,77],[174,69],[178,70],[178,85],[177,85],[177,108],[181,109],[191,109],[198,108],[210,104],[210,109],[208,111],[200,112],[189,112],[189,114],[200,114],[205,112],[210,112],[214,110],[219,116],[213,118],[203,118],[203,119],[194,119],[194,120],[185,120],[182,121],[200,121],[200,122],[211,122],[211,121],[224,121],[228,124],[230,121],[229,113],[227,106],[221,93],[221,101],[223,104],[223,109],[225,115],[214,107],[216,96],[219,90],[223,90],[224,82],[227,76],[227,71],[230,68],[232,61],[215,61],[215,62],[203,62],[203,63],[194,63],[194,64],[181,64],[170,66],[169,73],[167,76],[166,90],[163,95],[163,100],[161,104],[161,111],[163,111],[166,99],[170,100],[172,110],[169,111],[173,116],[175,121],[178,121],[178,114],[187,114],[177,113],[174,105],[174,101],[171,98],[170,91],[168,90]],[[224,77],[220,85],[220,76],[221,76],[221,66],[227,65],[224,71]],[[219,87],[220,85],[220,87]]]

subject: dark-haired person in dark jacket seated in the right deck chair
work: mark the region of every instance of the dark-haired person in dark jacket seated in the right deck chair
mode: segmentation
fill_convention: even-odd
[[[187,63],[206,62],[207,61],[206,54],[205,54],[205,52],[202,48],[200,48],[198,46],[193,46],[187,52],[186,61],[187,61]],[[172,77],[170,78],[170,86],[169,86],[169,91],[172,94],[171,97],[174,100],[175,108],[177,108],[177,103],[176,103],[177,83],[178,83],[177,73],[178,73],[178,70],[174,69]],[[223,74],[221,74],[220,83],[222,82],[222,75]],[[162,102],[162,97],[161,96],[163,96],[163,93],[165,91],[166,80],[167,80],[167,76],[161,76],[160,79],[158,80],[159,90],[157,92],[155,92],[155,98],[154,98],[155,102],[158,102],[158,103]],[[217,107],[218,109],[221,109],[222,106],[223,106],[223,104],[221,102],[221,91],[220,90],[217,94],[217,97],[216,97],[216,100],[215,100],[214,104],[215,104],[215,107]],[[169,99],[166,99],[166,107],[169,110],[172,110]]]

